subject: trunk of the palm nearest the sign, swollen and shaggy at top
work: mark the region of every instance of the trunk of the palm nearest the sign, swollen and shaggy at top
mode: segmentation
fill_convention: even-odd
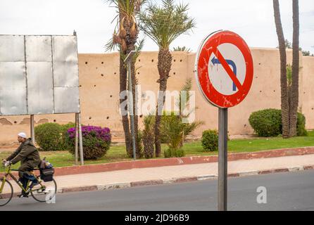
[[[156,124],[155,124],[155,148],[156,157],[161,156],[161,115],[163,113],[163,105],[165,104],[165,91],[167,89],[167,80],[172,64],[172,56],[169,49],[159,49],[158,52],[158,72],[159,72],[159,92],[156,105]]]

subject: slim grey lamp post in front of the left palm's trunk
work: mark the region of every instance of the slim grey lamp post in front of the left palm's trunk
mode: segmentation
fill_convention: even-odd
[[[136,144],[135,144],[135,131],[134,131],[134,112],[133,112],[133,94],[132,94],[132,74],[131,74],[131,57],[134,55],[135,51],[130,51],[127,57],[124,60],[124,63],[127,61],[127,73],[129,81],[129,91],[127,98],[129,99],[129,113],[131,119],[131,136],[132,136],[132,148],[133,148],[133,160],[137,160],[136,154]]]

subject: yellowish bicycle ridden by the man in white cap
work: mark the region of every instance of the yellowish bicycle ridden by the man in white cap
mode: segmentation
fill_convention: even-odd
[[[39,168],[35,168],[34,170],[39,170]],[[13,198],[13,186],[10,181],[8,181],[8,176],[11,176],[13,181],[18,184],[18,186],[25,191],[26,193],[30,193],[34,200],[37,200],[39,203],[44,203],[49,200],[53,200],[56,196],[57,192],[57,184],[54,179],[52,181],[43,181],[40,179],[40,175],[35,175],[34,171],[31,174],[35,177],[38,184],[36,184],[33,188],[30,188],[31,181],[27,181],[26,188],[23,187],[23,184],[15,178],[15,176],[11,173],[11,171],[19,171],[18,169],[11,169],[11,165],[8,165],[8,169],[2,178],[0,178],[0,206],[4,206],[8,204]]]

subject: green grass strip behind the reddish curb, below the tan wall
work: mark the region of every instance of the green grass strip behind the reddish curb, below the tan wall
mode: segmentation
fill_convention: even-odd
[[[237,139],[228,141],[228,151],[230,153],[243,153],[243,152],[255,152],[259,150],[272,150],[279,148],[298,148],[314,146],[314,131],[309,131],[308,136],[299,136],[291,139],[282,139],[282,137],[275,138],[256,138],[256,139]],[[162,155],[163,151],[167,149],[165,144],[162,145]],[[201,141],[193,141],[184,143],[183,149],[187,156],[191,155],[217,155],[218,152],[208,152],[203,150],[201,146]],[[0,152],[0,159],[7,158],[10,152]],[[40,152],[42,158],[46,157],[49,162],[51,162],[54,167],[66,167],[74,165],[73,155],[67,151],[58,152]],[[99,160],[86,160],[85,165],[101,164],[106,162],[119,162],[119,161],[129,161],[132,160],[127,158],[125,152],[125,146],[111,146],[108,150],[107,155]],[[140,159],[145,160],[145,159]],[[14,165],[16,169],[18,165]],[[3,172],[0,169],[0,172]]]

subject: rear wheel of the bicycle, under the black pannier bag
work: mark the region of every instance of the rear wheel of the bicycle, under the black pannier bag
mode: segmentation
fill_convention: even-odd
[[[40,184],[34,186],[30,193],[32,194],[32,198],[40,203],[54,203],[57,193],[56,181],[54,179],[48,182],[40,181]]]

